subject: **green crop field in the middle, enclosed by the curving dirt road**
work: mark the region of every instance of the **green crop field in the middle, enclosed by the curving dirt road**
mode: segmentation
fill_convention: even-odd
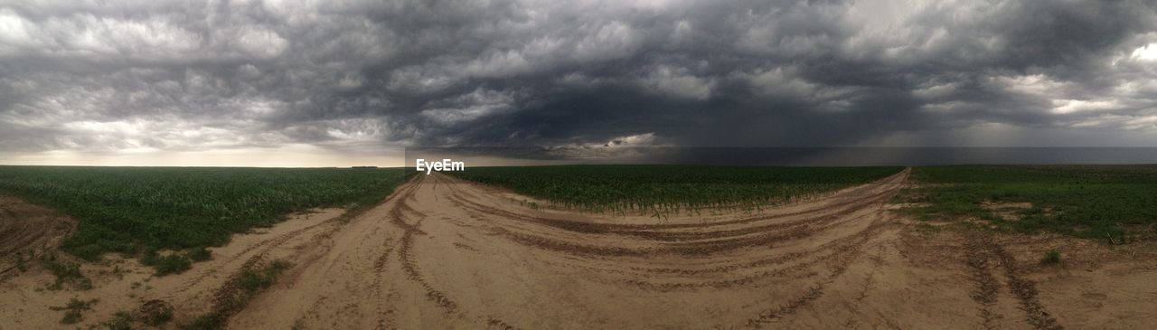
[[[588,211],[759,207],[899,173],[899,167],[479,167],[454,176]]]

